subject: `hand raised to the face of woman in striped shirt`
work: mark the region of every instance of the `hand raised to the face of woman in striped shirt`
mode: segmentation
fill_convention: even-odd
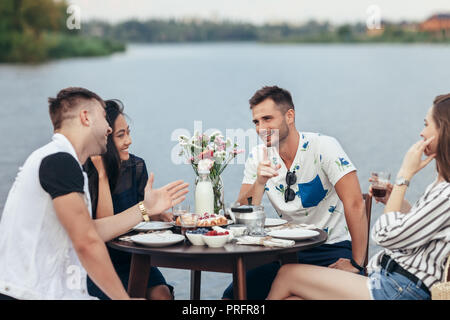
[[[422,170],[427,164],[434,159],[436,154],[431,154],[428,158],[422,160],[422,155],[425,148],[434,140],[434,136],[427,140],[420,140],[413,144],[406,153],[402,166],[398,172],[398,176],[401,176],[407,180],[411,178],[420,170]]]

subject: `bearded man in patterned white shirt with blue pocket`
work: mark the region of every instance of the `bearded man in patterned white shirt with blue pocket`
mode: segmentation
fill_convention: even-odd
[[[299,262],[362,273],[367,219],[356,168],[339,142],[299,132],[291,94],[263,87],[250,99],[253,122],[265,145],[245,164],[238,202],[260,204],[264,193],[280,217],[314,224],[328,233],[326,244],[299,253]],[[265,299],[278,263],[247,272],[248,299]],[[230,285],[224,299],[232,299]]]

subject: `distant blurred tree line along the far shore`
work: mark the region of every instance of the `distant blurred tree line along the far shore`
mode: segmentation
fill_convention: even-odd
[[[129,20],[111,25],[91,21],[87,35],[101,35],[124,42],[171,43],[256,41],[272,43],[449,43],[450,33],[421,32],[403,24],[386,24],[382,32],[368,32],[363,23],[331,25],[311,20],[302,25],[287,23],[253,25],[207,20]]]

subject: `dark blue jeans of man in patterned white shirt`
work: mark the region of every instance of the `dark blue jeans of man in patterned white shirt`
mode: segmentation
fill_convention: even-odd
[[[323,244],[310,250],[300,251],[298,253],[298,262],[328,267],[340,258],[350,259],[351,257],[352,243],[350,241],[342,241],[333,244]],[[266,299],[279,269],[280,264],[273,262],[247,271],[247,299]],[[230,284],[224,291],[223,298],[234,299],[233,284]]]

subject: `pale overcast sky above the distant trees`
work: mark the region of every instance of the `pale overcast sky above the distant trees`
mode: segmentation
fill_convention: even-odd
[[[100,18],[110,22],[130,18],[199,17],[253,23],[310,19],[364,22],[371,5],[378,6],[384,20],[421,21],[436,12],[450,12],[449,0],[69,0],[81,9],[82,20]]]

